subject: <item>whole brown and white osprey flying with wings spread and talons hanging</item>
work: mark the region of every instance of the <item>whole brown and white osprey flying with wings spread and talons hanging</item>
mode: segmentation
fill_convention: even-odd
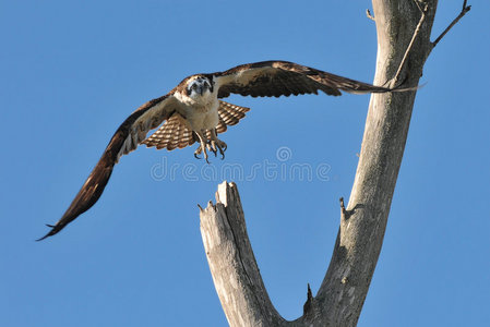
[[[58,233],[89,209],[100,197],[119,158],[140,144],[172,150],[199,142],[196,158],[202,154],[207,161],[207,152],[215,156],[219,152],[224,158],[227,145],[217,134],[237,124],[250,110],[220,100],[230,94],[279,97],[322,90],[339,96],[340,90],[364,94],[407,89],[414,88],[374,86],[287,61],[248,63],[224,72],[189,76],[167,95],[138,108],[122,122],[70,207],[55,226],[48,225],[51,230],[38,241]],[[160,124],[146,137],[148,131]]]

